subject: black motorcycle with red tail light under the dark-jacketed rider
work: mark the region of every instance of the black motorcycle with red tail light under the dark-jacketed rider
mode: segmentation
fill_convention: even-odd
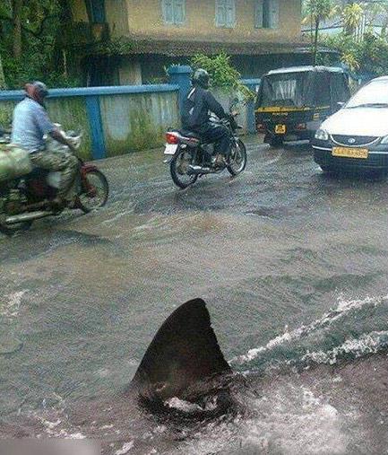
[[[233,105],[230,110],[232,110]],[[217,160],[214,155],[214,145],[203,141],[201,136],[182,130],[170,130],[166,133],[166,148],[168,156],[164,162],[169,164],[171,178],[179,188],[194,185],[198,178],[207,174],[219,174],[228,170],[233,177],[246,169],[246,146],[237,136],[236,117],[231,113],[230,118],[211,117],[211,122],[228,127],[230,132],[230,153],[224,162]]]

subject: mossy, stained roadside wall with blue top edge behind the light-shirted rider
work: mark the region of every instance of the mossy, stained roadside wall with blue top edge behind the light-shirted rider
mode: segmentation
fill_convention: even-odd
[[[169,127],[179,127],[179,87],[138,85],[56,89],[47,100],[49,117],[65,129],[81,130],[84,160],[99,159],[164,143]],[[23,93],[0,92],[0,126],[8,127]]]

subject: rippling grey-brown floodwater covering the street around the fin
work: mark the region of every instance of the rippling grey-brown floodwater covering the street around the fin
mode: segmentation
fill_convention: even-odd
[[[0,238],[3,437],[92,437],[109,455],[388,452],[388,180],[248,143],[243,175],[185,191],[160,150],[101,162],[104,210]],[[122,393],[196,297],[251,389],[246,413],[171,427]]]

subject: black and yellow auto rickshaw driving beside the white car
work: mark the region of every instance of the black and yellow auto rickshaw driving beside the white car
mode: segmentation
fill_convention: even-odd
[[[313,139],[323,120],[349,98],[348,76],[341,68],[299,66],[270,71],[257,94],[257,132],[272,146]]]

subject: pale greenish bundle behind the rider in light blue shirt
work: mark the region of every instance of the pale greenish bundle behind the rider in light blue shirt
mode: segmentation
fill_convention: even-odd
[[[30,171],[30,153],[13,144],[0,148],[0,181],[16,179]]]

